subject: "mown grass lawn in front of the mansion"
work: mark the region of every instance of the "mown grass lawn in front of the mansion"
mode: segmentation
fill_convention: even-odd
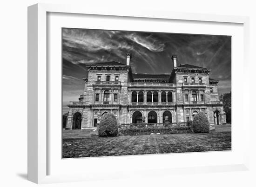
[[[63,158],[231,150],[231,131],[63,139]],[[228,129],[228,130],[227,130]]]

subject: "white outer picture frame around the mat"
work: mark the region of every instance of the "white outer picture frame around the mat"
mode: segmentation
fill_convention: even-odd
[[[51,4],[36,4],[28,7],[28,180],[35,183],[52,183],[52,182],[66,182],[66,181],[87,181],[87,180],[99,180],[99,179],[117,179],[126,177],[137,177],[138,174],[141,176],[150,176],[152,171],[157,171],[158,175],[161,174],[190,174],[190,173],[203,173],[203,172],[222,172],[222,171],[238,171],[238,170],[248,170],[249,169],[249,117],[245,117],[245,110],[242,114],[243,123],[243,150],[239,150],[239,154],[243,155],[243,159],[234,160],[233,164],[220,163],[217,165],[207,165],[195,164],[194,166],[181,166],[181,167],[171,167],[166,164],[165,167],[157,168],[144,168],[143,173],[141,173],[142,166],[138,165],[137,168],[123,168],[122,173],[115,173],[115,169],[109,171],[102,170],[100,173],[91,170],[88,173],[88,168],[79,169],[76,174],[66,173],[58,174],[55,172],[51,174],[49,172],[49,166],[53,164],[53,160],[49,156],[49,147],[52,145],[49,141],[49,127],[47,126],[49,122],[49,113],[47,110],[47,102],[49,100],[49,74],[51,67],[47,64],[49,60],[47,57],[47,13],[72,13],[72,14],[87,14],[87,15],[104,15],[104,16],[114,16],[120,19],[124,18],[136,18],[136,19],[158,19],[158,20],[176,20],[176,21],[199,21],[208,23],[221,23],[225,24],[242,24],[243,25],[243,74],[246,73],[249,65],[249,18],[243,16],[227,16],[227,15],[213,15],[213,14],[195,14],[195,13],[174,13],[174,12],[164,12],[159,10],[147,10],[140,9],[111,9],[111,8],[97,8],[92,9],[85,6],[75,6],[75,5],[51,5]],[[241,41],[242,41],[241,40]],[[236,54],[237,55],[237,54]],[[233,63],[233,62],[232,62]],[[232,67],[232,71],[233,71]],[[232,72],[233,74],[233,72]],[[233,75],[232,75],[233,79]],[[233,92],[233,80],[232,80],[232,92]],[[244,87],[249,87],[249,81],[243,82]],[[236,90],[235,90],[236,91]],[[61,96],[60,96],[61,97]],[[232,95],[232,102],[236,98],[236,94]],[[243,95],[243,102],[249,103],[249,97]],[[239,105],[243,107],[243,103]],[[232,105],[233,110],[233,105]],[[234,119],[234,116],[232,116]],[[232,120],[233,121],[233,120]],[[232,127],[233,128],[233,127]],[[236,129],[235,129],[236,130]],[[233,129],[232,129],[233,133]],[[233,139],[236,136],[232,134]],[[61,145],[60,145],[61,146]],[[233,144],[232,144],[233,146]],[[211,153],[217,156],[218,153]],[[227,153],[229,154],[229,153]],[[154,155],[152,156],[126,156],[126,163],[129,161],[142,161],[143,157],[147,159],[155,158],[167,159],[169,155]],[[173,155],[177,157],[179,155]],[[191,154],[183,154],[182,157],[193,157]],[[197,155],[201,156],[201,155]],[[202,154],[202,157],[206,157],[206,154]],[[180,156],[179,156],[180,157]],[[90,159],[90,158],[89,158]],[[109,162],[115,159],[118,161],[124,161],[122,157],[115,158],[95,158],[107,160]],[[51,160],[51,161],[50,161]],[[76,164],[85,161],[82,159],[76,159]],[[99,160],[97,160],[99,161]],[[104,164],[104,163],[102,163]],[[121,171],[121,168],[120,168]],[[132,172],[131,172],[132,171]],[[105,174],[105,175],[104,175]],[[153,174],[155,175],[155,174]]]

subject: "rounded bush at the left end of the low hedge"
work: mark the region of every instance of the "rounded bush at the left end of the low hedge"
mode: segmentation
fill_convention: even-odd
[[[99,136],[116,136],[118,134],[117,120],[113,114],[102,116],[98,128]]]

